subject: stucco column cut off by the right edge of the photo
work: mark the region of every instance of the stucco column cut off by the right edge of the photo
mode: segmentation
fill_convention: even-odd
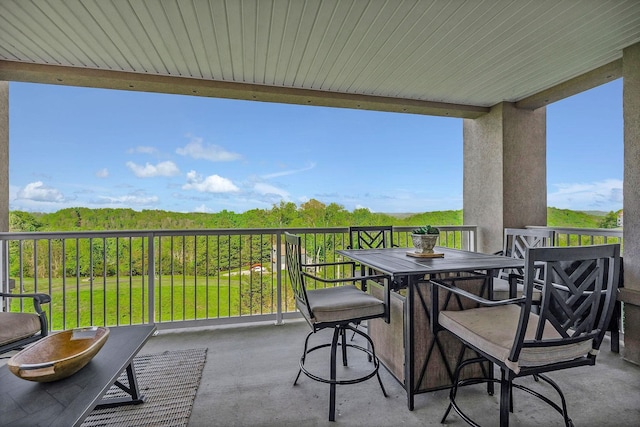
[[[622,55],[624,118],[624,352],[640,364],[640,43]]]

